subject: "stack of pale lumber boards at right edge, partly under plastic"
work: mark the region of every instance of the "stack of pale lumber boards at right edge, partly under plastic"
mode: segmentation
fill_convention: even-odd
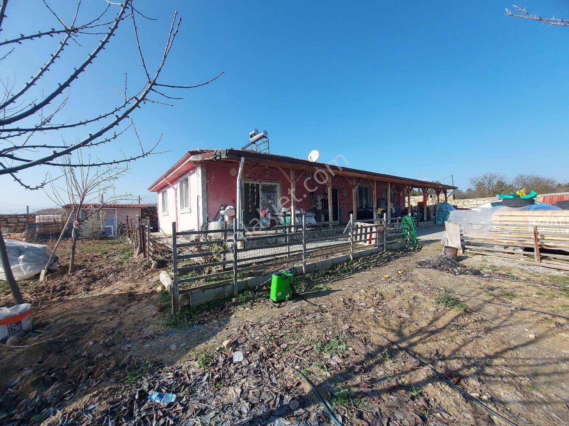
[[[493,211],[484,223],[461,223],[468,250],[569,270],[569,210]]]

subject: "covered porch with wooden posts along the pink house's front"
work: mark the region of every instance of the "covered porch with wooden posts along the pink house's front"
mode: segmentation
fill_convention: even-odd
[[[302,215],[316,223],[347,223],[351,214],[358,221],[381,219],[385,214],[387,219],[412,215],[416,222],[428,222],[434,220],[431,219],[434,210],[429,210],[427,203],[411,207],[411,191],[422,190],[424,198],[431,192],[438,201],[447,201],[447,191],[453,189],[435,182],[351,169],[338,164],[339,161],[325,164],[235,149],[199,154],[192,160],[206,164],[209,185],[215,186],[216,176],[220,174],[239,178],[237,170],[242,157],[238,219],[244,227],[296,224]],[[221,182],[219,177],[217,183],[220,187],[208,190],[208,212],[210,206],[212,209],[217,206],[214,198],[230,202],[229,194],[220,194],[226,191],[235,194],[235,186]],[[235,198],[233,195],[233,201]],[[267,212],[271,213],[270,220]],[[295,222],[291,221],[291,212],[296,213]],[[213,211],[209,214],[213,215]]]

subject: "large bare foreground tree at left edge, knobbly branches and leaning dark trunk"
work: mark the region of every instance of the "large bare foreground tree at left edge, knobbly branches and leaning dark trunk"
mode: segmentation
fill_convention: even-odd
[[[3,38],[5,34],[3,23],[9,19],[9,3],[11,4],[11,2],[9,0],[0,1],[0,35]],[[104,10],[99,15],[93,16],[93,19],[88,19],[83,23],[80,23],[78,18],[81,0],[77,0],[77,7],[70,19],[63,19],[48,5],[47,0],[42,0],[42,3],[46,7],[46,16],[52,17],[55,23],[54,27],[48,26],[45,30],[31,34],[19,34],[16,31],[10,38],[0,41],[0,69],[7,76],[13,76],[17,74],[19,64],[15,65],[13,70],[6,69],[6,66],[1,64],[2,61],[6,61],[6,58],[15,49],[26,48],[30,43],[34,43],[42,38],[61,37],[55,52],[51,54],[46,52],[44,64],[39,66],[38,72],[31,76],[27,82],[23,83],[20,89],[15,89],[15,83],[10,81],[9,77],[0,81],[2,85],[0,90],[3,89],[3,93],[0,94],[0,176],[5,175],[13,178],[14,181],[18,182],[25,189],[36,190],[42,188],[50,179],[46,176],[42,182],[27,183],[26,178],[22,176],[24,170],[36,166],[55,166],[59,168],[60,162],[57,159],[67,156],[79,148],[94,148],[101,145],[117,144],[119,136],[131,128],[131,131],[134,131],[130,115],[137,108],[150,103],[171,106],[172,104],[169,102],[182,98],[172,93],[169,94],[168,90],[192,89],[203,86],[216,80],[223,74],[221,72],[217,77],[207,82],[192,86],[160,82],[160,73],[166,64],[176,36],[178,36],[182,21],[178,17],[178,12],[174,12],[170,30],[167,31],[161,59],[154,65],[152,70],[149,62],[145,60],[143,48],[139,43],[138,19],[143,19],[145,22],[154,19],[148,18],[138,11],[133,5],[133,0],[122,0],[122,2],[107,1]],[[25,20],[20,18],[20,22],[23,24]],[[45,22],[47,24],[47,18]],[[134,90],[129,89],[125,74],[124,89],[118,90],[115,87],[120,96],[116,106],[109,107],[108,110],[102,111],[96,116],[82,120],[71,120],[69,116],[62,117],[69,99],[72,83],[77,81],[81,73],[90,69],[93,61],[104,53],[113,37],[119,34],[119,27],[125,26],[126,23],[129,23],[133,29],[135,49],[137,49],[141,59],[141,69],[145,76],[141,86]],[[59,77],[54,76],[53,72],[50,72],[50,81],[55,78],[56,84],[52,84],[44,78],[53,69],[52,65],[54,62],[64,55],[65,49],[71,43],[82,47],[88,45],[89,40],[93,37],[96,37],[95,40],[98,41],[84,61],[70,64],[69,71],[60,74]],[[91,91],[95,90],[92,89]],[[90,102],[90,99],[83,99],[83,101],[87,104]],[[57,144],[51,142],[53,139],[47,138],[47,135],[50,133],[63,131],[73,133],[72,140],[75,143],[69,145]],[[46,140],[50,142],[48,143]],[[137,153],[130,155],[122,154],[119,158],[109,158],[108,160],[97,159],[97,161],[88,163],[67,162],[66,167],[85,168],[127,164],[138,158],[157,153],[155,149],[158,141],[150,144],[149,148],[144,148],[139,140],[140,151]],[[116,151],[119,150],[117,149]],[[7,259],[4,246],[4,244],[0,243],[0,258],[6,257]],[[7,266],[4,265],[4,268],[6,269]],[[9,278],[8,281],[11,287],[17,287],[13,278]],[[17,298],[16,294],[14,296]]]

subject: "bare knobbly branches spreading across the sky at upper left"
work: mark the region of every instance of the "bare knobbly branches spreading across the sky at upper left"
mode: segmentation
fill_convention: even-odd
[[[2,0],[0,0],[2,1]],[[156,66],[154,70],[154,75],[150,73],[150,69],[148,66],[147,61],[143,55],[143,49],[138,37],[138,22],[137,17],[134,16],[135,14],[142,16],[145,19],[153,20],[145,15],[143,15],[138,10],[135,10],[132,7],[132,0],[125,0],[124,3],[119,3],[120,10],[117,13],[116,17],[110,21],[112,24],[108,31],[105,32],[105,37],[101,39],[94,49],[94,51],[88,56],[88,58],[81,63],[78,68],[74,68],[74,72],[65,80],[63,83],[59,83],[56,90],[51,91],[46,97],[41,97],[40,101],[23,101],[23,99],[31,93],[31,87],[38,85],[39,81],[42,81],[42,77],[46,76],[47,71],[50,69],[50,66],[53,62],[61,56],[61,53],[64,52],[64,48],[69,45],[69,41],[73,40],[76,41],[74,37],[87,34],[85,29],[86,27],[94,28],[100,26],[101,24],[98,23],[98,20],[102,18],[105,14],[106,10],[109,9],[109,6],[114,4],[113,2],[108,2],[109,5],[106,6],[105,11],[102,14],[98,15],[97,18],[93,19],[89,23],[85,24],[84,26],[76,26],[76,19],[77,14],[79,11],[79,7],[81,6],[81,0],[78,0],[77,9],[75,10],[75,14],[73,15],[73,20],[71,25],[65,23],[65,19],[63,16],[57,15],[55,10],[51,9],[50,5],[47,4],[48,0],[42,0],[48,10],[51,12],[53,16],[57,19],[57,21],[64,27],[62,30],[56,30],[52,28],[52,31],[44,32],[43,35],[50,35],[53,36],[55,34],[60,34],[58,31],[61,31],[61,34],[65,34],[63,40],[61,40],[59,47],[56,49],[55,53],[51,55],[50,60],[46,62],[40,68],[39,72],[34,76],[31,77],[31,80],[26,83],[26,85],[20,89],[17,93],[12,91],[13,85],[10,87],[8,83],[2,85],[5,88],[3,99],[0,99],[0,143],[5,141],[5,143],[9,143],[9,146],[2,147],[0,145],[0,160],[2,160],[2,167],[0,167],[0,176],[2,174],[9,174],[12,178],[14,178],[20,185],[24,186],[26,189],[36,189],[36,187],[43,187],[48,183],[48,181],[43,181],[39,183],[39,185],[32,186],[27,185],[24,183],[20,178],[18,173],[21,173],[23,170],[34,167],[36,165],[47,165],[47,166],[60,166],[60,161],[57,161],[68,154],[72,154],[76,150],[80,150],[81,148],[90,148],[96,147],[97,145],[102,145],[106,143],[110,143],[117,139],[118,136],[122,135],[127,129],[133,127],[134,135],[138,140],[139,147],[141,151],[135,155],[127,155],[123,154],[123,158],[112,158],[110,160],[98,160],[94,162],[66,162],[67,167],[77,167],[77,168],[88,168],[90,166],[115,166],[119,164],[128,164],[130,161],[137,160],[138,158],[147,157],[151,154],[156,154],[160,152],[156,152],[156,146],[158,143],[154,144],[150,149],[145,149],[142,145],[141,138],[138,135],[138,132],[134,128],[134,121],[130,117],[130,114],[134,112],[136,108],[140,108],[141,106],[145,105],[147,102],[149,103],[157,103],[160,105],[168,105],[172,106],[171,103],[161,102],[156,99],[149,99],[148,95],[150,93],[156,93],[160,97],[171,99],[171,100],[179,100],[182,97],[171,95],[168,93],[164,93],[162,90],[157,90],[158,86],[162,87],[170,87],[172,89],[191,89],[194,87],[203,86],[216,80],[218,77],[221,76],[224,72],[218,74],[217,77],[212,78],[208,82],[201,83],[200,85],[195,86],[174,86],[174,85],[167,85],[158,82],[160,77],[160,73],[164,67],[166,59],[171,51],[172,46],[174,45],[174,41],[176,36],[179,32],[179,27],[181,23],[181,19],[178,18],[178,12],[174,13],[174,17],[171,22],[170,30],[168,31],[168,36],[166,40],[166,44],[164,45],[164,52],[162,54],[162,59]],[[5,5],[5,3],[2,3]],[[129,11],[130,9],[130,11]],[[125,74],[125,91],[124,94],[120,91],[117,92],[121,95],[122,102],[117,107],[113,108],[112,110],[105,112],[104,114],[97,115],[93,118],[89,118],[79,122],[72,122],[71,119],[68,119],[67,122],[55,122],[55,116],[58,114],[65,103],[67,102],[67,97],[65,100],[57,107],[51,107],[53,101],[59,98],[63,91],[69,88],[69,85],[79,77],[81,72],[84,72],[86,67],[92,63],[95,57],[102,52],[105,48],[106,44],[109,43],[112,36],[115,35],[116,30],[119,26],[119,22],[122,22],[127,16],[131,15],[131,19],[133,22],[133,30],[135,35],[135,43],[137,43],[137,49],[139,56],[141,57],[142,68],[146,74],[146,83],[138,90],[136,95],[128,95],[127,94],[127,80]],[[80,28],[81,31],[77,31],[77,28]],[[55,31],[55,32],[54,32]],[[48,34],[49,33],[49,34]],[[38,33],[40,34],[40,33]],[[35,38],[37,35],[32,36],[24,36],[22,37],[31,37]],[[18,39],[13,39],[18,40]],[[20,39],[21,41],[21,39]],[[78,43],[79,44],[79,43]],[[2,44],[0,44],[0,47]],[[137,91],[137,90],[135,90]],[[50,108],[48,108],[50,106]],[[51,112],[45,112],[44,110],[50,109]],[[36,124],[28,123],[30,118],[37,117],[38,122]],[[123,122],[123,120],[129,118],[130,123],[123,128],[122,130],[118,130],[117,127]],[[94,123],[101,122],[102,124],[100,127],[92,128]],[[24,124],[26,123],[26,124]],[[104,123],[104,124],[103,124]],[[13,126],[8,127],[10,124]],[[31,126],[30,126],[31,124]],[[85,126],[85,128],[89,128],[86,130],[85,133],[88,133],[88,136],[83,137],[75,137],[75,143],[72,144],[58,144],[58,143],[37,143],[36,139],[41,138],[42,133],[46,131],[52,130],[70,130],[74,128],[79,128],[80,126]],[[115,129],[115,131],[113,131]],[[93,132],[93,130],[95,130]],[[112,132],[112,134],[110,134]],[[34,135],[38,135],[34,139]],[[160,136],[161,139],[162,136]],[[160,139],[158,141],[160,141]],[[48,152],[46,152],[49,150]],[[34,158],[33,156],[28,156],[26,152],[29,153],[38,153],[38,155]]]

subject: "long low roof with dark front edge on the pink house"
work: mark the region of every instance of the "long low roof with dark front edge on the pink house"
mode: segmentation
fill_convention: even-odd
[[[456,186],[444,185],[442,183],[421,181],[419,179],[405,178],[400,176],[393,176],[390,174],[369,172],[366,170],[352,169],[342,167],[340,165],[327,164],[318,161],[308,161],[302,158],[287,157],[278,154],[267,154],[264,152],[251,151],[249,149],[194,149],[184,154],[182,158],[174,166],[172,166],[166,173],[164,173],[156,182],[152,183],[149,191],[157,191],[162,186],[160,183],[164,179],[176,177],[176,170],[182,168],[183,164],[188,161],[240,161],[241,157],[245,157],[245,162],[281,166],[286,168],[294,168],[297,170],[332,170],[336,176],[349,176],[355,178],[370,179],[374,181],[400,183],[402,185],[418,187],[418,188],[432,188],[432,189],[456,189]]]

